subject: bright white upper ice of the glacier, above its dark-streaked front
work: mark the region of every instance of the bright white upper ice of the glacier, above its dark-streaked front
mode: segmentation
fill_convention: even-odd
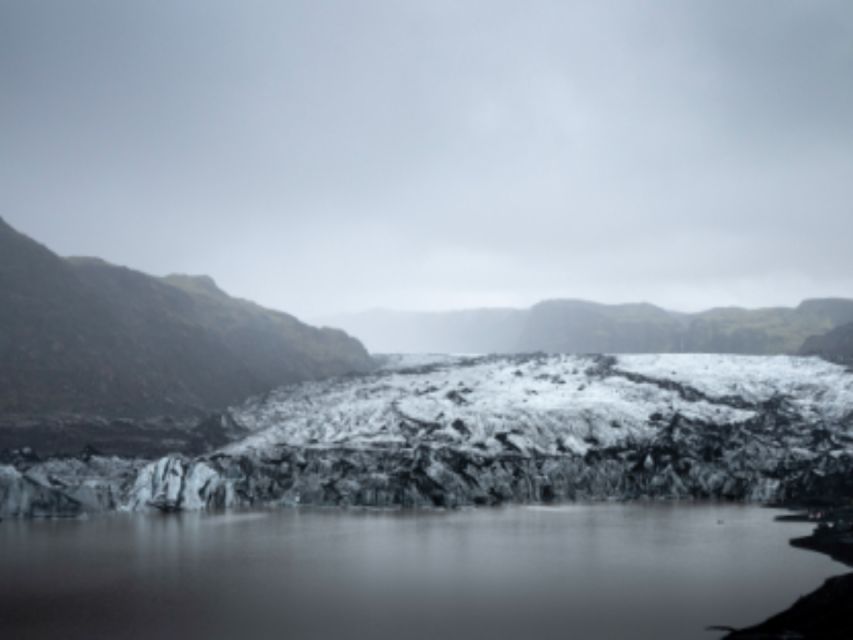
[[[495,451],[585,453],[650,435],[676,413],[708,424],[746,420],[743,405],[785,396],[811,420],[853,408],[853,376],[816,358],[726,355],[455,357],[412,361],[356,378],[284,387],[232,410],[254,433],[228,453],[273,444],[393,446],[413,437]],[[622,372],[647,379],[629,379]],[[687,385],[704,398],[685,399]],[[671,385],[670,385],[671,387]],[[733,403],[727,398],[738,398]],[[653,419],[654,418],[654,419]]]

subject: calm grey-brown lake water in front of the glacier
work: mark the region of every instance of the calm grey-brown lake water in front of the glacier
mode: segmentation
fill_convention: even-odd
[[[778,512],[593,504],[0,523],[0,637],[718,638],[845,568]]]

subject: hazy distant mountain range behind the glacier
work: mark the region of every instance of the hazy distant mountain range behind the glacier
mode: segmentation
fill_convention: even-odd
[[[727,307],[700,313],[651,304],[549,300],[529,309],[373,310],[323,322],[358,337],[374,353],[795,354],[810,339],[811,352],[818,352],[814,336],[853,322],[853,300],[825,298],[793,308]],[[832,355],[829,346],[823,351]]]

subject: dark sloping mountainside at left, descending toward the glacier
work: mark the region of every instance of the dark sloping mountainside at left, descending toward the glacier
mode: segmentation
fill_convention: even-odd
[[[199,416],[372,366],[344,332],[232,298],[210,278],[60,258],[0,220],[0,416]]]

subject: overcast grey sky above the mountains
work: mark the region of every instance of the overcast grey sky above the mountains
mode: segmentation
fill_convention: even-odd
[[[0,0],[0,215],[307,317],[853,296],[853,3]]]

